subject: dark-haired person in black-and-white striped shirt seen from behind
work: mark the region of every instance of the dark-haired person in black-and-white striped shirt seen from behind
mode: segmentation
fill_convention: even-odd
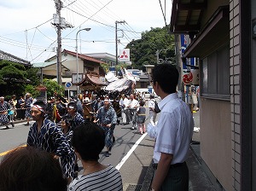
[[[123,190],[119,171],[112,165],[102,165],[98,161],[105,146],[105,134],[97,124],[84,122],[77,126],[71,142],[82,162],[84,173],[70,184],[70,190]]]

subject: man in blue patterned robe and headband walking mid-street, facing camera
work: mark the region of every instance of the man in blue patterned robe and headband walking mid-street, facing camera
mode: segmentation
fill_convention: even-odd
[[[104,100],[104,107],[100,108],[94,122],[98,122],[102,127],[102,130],[105,131],[105,145],[107,148],[105,156],[109,157],[109,152],[113,147],[113,140],[115,140],[113,139],[113,130],[115,128],[115,124],[117,123],[117,115],[113,107],[110,106],[108,99]]]

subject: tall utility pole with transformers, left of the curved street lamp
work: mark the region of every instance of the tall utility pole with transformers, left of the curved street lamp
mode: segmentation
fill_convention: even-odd
[[[61,8],[63,7],[63,3],[61,0],[54,0],[55,1],[55,8],[56,8],[56,14],[54,14],[54,23],[52,23],[56,29],[57,29],[57,62],[56,62],[56,76],[57,76],[57,82],[58,84],[62,85],[62,79],[61,79],[61,29],[65,29],[67,27],[72,28],[73,26],[68,24],[65,21],[65,18],[61,17]]]

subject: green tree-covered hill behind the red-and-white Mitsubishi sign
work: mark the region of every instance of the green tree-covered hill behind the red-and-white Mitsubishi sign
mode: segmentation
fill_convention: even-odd
[[[168,26],[151,28],[142,33],[142,38],[132,40],[126,48],[130,49],[132,67],[142,69],[143,65],[155,65],[156,51],[160,51],[160,61],[175,61],[174,36],[167,32]]]

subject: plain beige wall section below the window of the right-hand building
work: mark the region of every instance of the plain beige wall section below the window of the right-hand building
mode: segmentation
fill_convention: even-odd
[[[201,98],[200,123],[201,158],[224,189],[233,190],[230,101]]]

